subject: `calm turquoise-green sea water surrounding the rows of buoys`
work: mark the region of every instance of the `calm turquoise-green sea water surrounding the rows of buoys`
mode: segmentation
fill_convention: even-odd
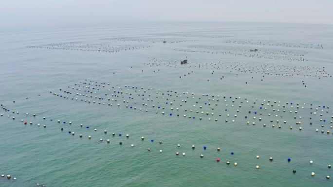
[[[0,174],[12,178],[0,186],[332,186],[332,33],[245,23],[2,33]]]

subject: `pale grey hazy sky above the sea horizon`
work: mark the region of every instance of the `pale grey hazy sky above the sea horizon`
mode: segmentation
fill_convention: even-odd
[[[333,0],[0,0],[2,29],[160,20],[333,24]]]

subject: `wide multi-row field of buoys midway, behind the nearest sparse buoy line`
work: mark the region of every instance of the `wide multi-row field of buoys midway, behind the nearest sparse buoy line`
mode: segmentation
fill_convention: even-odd
[[[107,87],[112,88],[112,90],[107,89]],[[261,123],[263,124],[263,127],[266,127],[266,123],[268,123],[271,124],[273,128],[278,127],[278,129],[285,129],[283,128],[283,125],[296,124],[299,130],[302,129],[304,130],[304,127],[300,127],[300,125],[304,123],[303,122],[304,118],[302,119],[300,113],[303,113],[302,115],[310,116],[310,118],[306,119],[307,120],[306,123],[310,124],[310,126],[313,127],[312,121],[318,120],[317,118],[319,116],[320,118],[323,116],[323,114],[320,114],[319,116],[316,115],[316,112],[323,112],[324,114],[325,112],[326,114],[331,112],[328,110],[329,107],[324,108],[324,106],[321,106],[320,107],[321,110],[318,111],[318,108],[314,108],[312,104],[309,105],[298,102],[295,104],[295,102],[283,103],[279,101],[271,102],[269,100],[267,101],[262,100],[263,102],[260,103],[258,99],[254,100],[254,102],[249,102],[249,99],[247,98],[240,98],[240,97],[230,98],[226,96],[220,96],[220,95],[214,96],[210,94],[203,94],[203,96],[198,96],[196,94],[192,94],[191,92],[177,92],[177,91],[172,92],[172,90],[167,90],[166,92],[154,93],[154,91],[152,91],[152,88],[149,87],[147,90],[144,90],[142,87],[138,86],[115,87],[111,86],[110,83],[109,84],[106,84],[106,82],[97,83],[96,81],[81,82],[75,84],[74,87],[72,87],[72,89],[70,88],[70,86],[68,86],[68,88],[69,88],[68,90],[60,90],[60,92],[63,92],[63,95],[54,92],[51,93],[60,98],[71,99],[74,101],[82,101],[90,104],[98,103],[99,105],[108,105],[110,107],[116,105],[119,108],[122,108],[125,105],[125,108],[134,109],[136,111],[149,112],[151,109],[149,109],[148,106],[151,106],[153,110],[155,109],[156,114],[162,114],[162,115],[169,114],[168,116],[170,117],[187,117],[188,119],[192,120],[193,119],[202,120],[204,118],[206,119],[208,118],[209,121],[211,120],[211,117],[215,117],[214,119],[215,121],[218,121],[219,119],[224,117],[224,120],[223,119],[222,120],[225,123],[241,122],[242,124],[244,124],[244,121],[240,119],[246,119],[245,124],[247,125],[249,125],[250,123],[253,125]],[[73,92],[75,91],[76,95],[74,95],[72,91]],[[76,98],[74,98],[72,94]],[[101,94],[101,96],[98,96],[98,94]],[[194,103],[193,100],[196,101],[194,103],[196,105],[189,106],[189,104],[187,104],[189,102],[187,101],[191,100],[192,103]],[[143,102],[143,103],[140,106],[138,102]],[[225,108],[224,111],[220,107],[221,102],[224,102],[222,103],[223,108]],[[215,108],[212,106],[215,106]],[[238,109],[236,109],[237,106]],[[188,108],[184,109],[184,107]],[[201,112],[199,111],[203,109],[206,109],[206,111],[201,111]],[[244,111],[243,109],[245,110],[249,109],[249,115],[239,118],[238,114],[240,113],[240,111]],[[325,109],[326,111],[324,111]],[[181,111],[184,111],[185,113],[180,114]],[[219,111],[219,113],[216,114],[216,111]],[[270,113],[269,111],[271,111],[272,113]],[[233,112],[234,114],[230,115],[228,114],[229,112]],[[293,119],[289,119],[289,121],[283,120],[282,122],[281,120],[279,120],[279,119],[285,119],[284,115],[289,116],[289,114],[287,113],[296,114],[297,116],[294,116]],[[193,116],[191,116],[191,114]],[[231,116],[234,116],[234,118],[230,119]],[[249,121],[250,118],[252,118],[253,120],[252,122]],[[326,118],[328,119],[330,117],[327,116]],[[319,121],[320,123],[323,123],[322,125],[324,125],[321,126],[321,128],[329,127],[329,129],[332,129],[332,125],[328,124],[328,120],[319,119]],[[333,122],[332,120],[329,121],[329,123],[332,122]],[[292,128],[292,126],[289,127],[290,130],[294,129]],[[330,131],[328,130],[326,130],[325,132],[327,132],[328,134],[330,133]]]

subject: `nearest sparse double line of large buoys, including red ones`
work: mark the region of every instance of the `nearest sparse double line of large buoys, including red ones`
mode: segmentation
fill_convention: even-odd
[[[7,109],[6,111],[8,111],[8,109]],[[26,114],[28,115],[28,113],[26,113]],[[36,114],[33,115],[34,118],[36,118],[36,116],[37,116]],[[45,120],[45,119],[46,119],[46,118],[43,117],[43,120]],[[51,119],[50,119],[50,120],[51,120]],[[53,121],[53,120],[51,120],[51,121]],[[23,122],[23,121],[21,120],[21,122]],[[61,124],[60,122],[61,122],[60,120],[57,120],[57,121],[56,121],[56,123]],[[30,124],[33,124],[33,123],[34,123],[34,122],[32,122],[32,121],[30,122]],[[65,124],[65,121],[64,121],[62,124]],[[70,124],[72,124],[72,123],[70,122]],[[83,127],[83,125],[80,124],[80,127]],[[89,126],[87,126],[87,127],[89,127]],[[64,129],[61,128],[61,131],[64,131]],[[94,129],[94,132],[96,132],[96,131],[97,131],[97,129]],[[99,132],[100,132],[100,131],[99,131]],[[105,136],[111,136],[111,137],[121,137],[121,136],[122,136],[122,134],[118,134],[118,136],[116,136],[115,133],[112,133],[111,135],[110,135],[110,134],[108,135],[108,131],[107,131],[107,130],[104,130],[104,131],[102,131],[102,132],[103,132],[103,134],[104,134]],[[70,135],[72,135],[72,136],[75,135],[74,132],[71,132],[71,131],[69,131],[68,133],[69,133]],[[130,137],[129,134],[127,134],[127,135],[126,135],[126,139],[129,139],[129,137]],[[82,134],[79,135],[79,138],[82,138]],[[88,136],[88,139],[91,140],[91,139],[92,139],[92,136]],[[98,139],[98,138],[97,138],[97,139]],[[139,139],[140,139],[140,143],[141,143],[141,142],[145,142],[145,136],[141,136]],[[113,139],[113,140],[114,140],[114,139]],[[99,138],[99,141],[102,142],[102,141],[103,141],[103,138]],[[119,140],[118,140],[118,141],[119,141]],[[124,140],[123,140],[123,141],[124,141]],[[110,142],[111,142],[110,139],[107,139],[106,144],[110,144]],[[113,142],[113,141],[112,141],[112,142]],[[146,141],[146,142],[147,142],[147,141]],[[150,142],[153,143],[154,140],[151,139]],[[139,143],[139,142],[138,142],[138,143]],[[149,143],[149,144],[151,144],[151,143]],[[117,143],[116,143],[116,144],[117,144]],[[122,141],[120,141],[118,144],[121,145],[121,146],[124,146]],[[160,141],[158,142],[158,145],[162,146],[162,145],[163,145],[163,142],[160,140]],[[134,143],[131,143],[131,144],[130,144],[130,147],[131,147],[131,148],[134,148],[134,147],[135,147],[135,144],[134,144]],[[152,151],[152,149],[151,149],[152,146],[148,146],[148,147],[149,147],[149,148],[148,148],[148,152],[151,152],[151,151]],[[180,144],[177,144],[177,145],[175,146],[175,149],[177,149],[177,148],[179,149],[180,147],[181,147],[181,145],[180,145]],[[207,150],[207,147],[208,147],[208,146],[204,145],[203,148],[202,148],[203,151],[206,151],[206,150]],[[156,147],[155,147],[155,148],[156,148]],[[153,150],[155,150],[155,148],[154,148]],[[158,149],[160,149],[160,150],[159,150],[159,153],[163,153],[163,150],[162,150],[161,148],[156,148],[156,150],[158,150]],[[195,146],[192,145],[192,146],[191,146],[191,149],[192,149],[192,150],[195,150]],[[216,151],[217,151],[218,153],[222,153],[220,147],[216,148]],[[224,153],[225,153],[225,152],[224,152]],[[229,152],[229,154],[234,155],[235,153],[234,153],[234,152]],[[179,152],[176,152],[176,155],[179,155]],[[185,156],[185,155],[186,155],[185,152],[183,152],[182,155]],[[199,157],[200,157],[200,158],[203,158],[203,154],[200,154]],[[260,156],[257,155],[255,158],[256,158],[256,159],[259,159]],[[273,157],[269,157],[268,160],[269,160],[269,162],[272,162],[272,161],[273,161]],[[217,161],[217,162],[220,162],[221,159],[220,159],[220,158],[216,158],[216,161]],[[288,158],[287,161],[288,161],[288,162],[292,162],[292,159],[291,159],[291,158]],[[309,162],[310,162],[310,165],[314,164],[314,161],[313,161],[313,160],[310,160]],[[230,161],[226,161],[226,164],[229,165],[229,164],[230,164]],[[238,166],[238,165],[239,165],[238,162],[235,162],[235,163],[234,163],[234,166]],[[258,165],[255,166],[255,169],[257,169],[257,170],[259,170],[260,168],[261,168],[261,166],[258,166]],[[328,169],[330,169],[330,168],[331,168],[331,165],[328,165]],[[295,170],[295,169],[293,169],[293,173],[296,173],[296,170]],[[10,176],[10,175],[9,175],[9,176]],[[314,176],[314,174],[311,173],[311,176]],[[10,178],[10,177],[9,177],[9,178]],[[326,178],[329,179],[330,176],[327,175]]]

